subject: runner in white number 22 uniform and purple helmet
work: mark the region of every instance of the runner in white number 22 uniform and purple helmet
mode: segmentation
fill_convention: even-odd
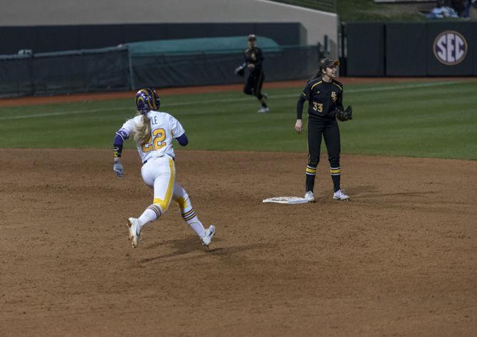
[[[142,212],[139,218],[127,219],[131,245],[134,248],[137,247],[142,227],[159,219],[173,199],[179,205],[184,221],[194,229],[201,238],[202,244],[208,246],[214,237],[215,227],[211,225],[208,229],[204,229],[192,208],[189,195],[175,181],[176,169],[172,140],[175,138],[182,146],[186,146],[189,140],[181,123],[172,115],[159,112],[159,105],[160,98],[154,89],[139,90],[136,94],[137,116],[122,125],[114,140],[113,170],[115,174],[118,177],[124,174],[120,161],[122,143],[132,136],[137,143],[137,152],[142,161],[142,179],[147,186],[154,189],[152,204]]]

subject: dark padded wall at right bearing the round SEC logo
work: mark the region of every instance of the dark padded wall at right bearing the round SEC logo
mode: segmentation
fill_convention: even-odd
[[[477,23],[346,24],[347,76],[477,76]]]

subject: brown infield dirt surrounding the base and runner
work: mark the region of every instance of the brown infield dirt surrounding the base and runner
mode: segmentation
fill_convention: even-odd
[[[110,150],[0,150],[1,336],[476,336],[477,162],[342,156],[350,202],[316,204],[305,153],[177,152],[176,204],[140,247],[140,162]]]

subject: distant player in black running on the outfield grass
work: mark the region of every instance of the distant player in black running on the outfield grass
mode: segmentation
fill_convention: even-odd
[[[266,95],[262,93],[263,80],[263,53],[257,47],[256,36],[251,34],[248,36],[248,48],[245,51],[245,63],[248,68],[248,78],[243,86],[243,92],[247,95],[254,95],[261,103],[258,113],[268,113],[270,109],[266,103]]]

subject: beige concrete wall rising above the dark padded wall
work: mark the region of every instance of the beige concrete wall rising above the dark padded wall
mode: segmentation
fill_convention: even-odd
[[[266,0],[0,0],[0,24],[4,27],[82,26],[115,24],[251,24],[296,23],[305,29],[303,43],[323,43],[329,37],[330,52],[337,55],[337,15]],[[209,37],[221,35],[214,28],[206,36],[175,36],[172,38]],[[217,35],[219,34],[219,35]],[[286,34],[286,32],[285,32]],[[237,35],[234,33],[232,35]],[[239,35],[243,35],[239,32]],[[261,35],[264,35],[261,33]],[[1,33],[2,38],[7,36]],[[148,40],[148,32],[144,39]],[[45,41],[53,43],[52,41]],[[106,46],[114,46],[108,44]],[[95,46],[96,48],[104,46]],[[58,50],[58,49],[56,49]],[[65,49],[63,49],[65,50]]]

